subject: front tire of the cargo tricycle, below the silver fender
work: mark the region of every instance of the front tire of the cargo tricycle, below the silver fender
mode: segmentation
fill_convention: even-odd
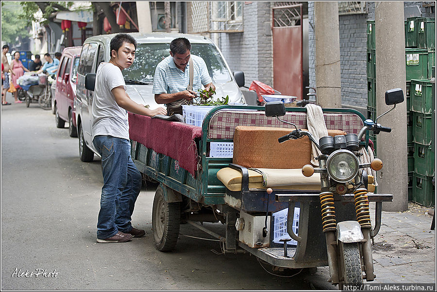
[[[344,275],[344,281],[340,283],[340,289],[343,289],[342,285],[362,285],[363,276],[361,272],[361,260],[360,250],[358,243],[341,243],[341,263],[342,272]]]

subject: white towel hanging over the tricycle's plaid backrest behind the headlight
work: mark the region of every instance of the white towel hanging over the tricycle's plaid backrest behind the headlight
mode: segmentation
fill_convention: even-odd
[[[319,142],[321,137],[328,136],[328,129],[326,129],[325,119],[323,118],[323,112],[321,107],[316,104],[308,103],[306,108],[306,125],[308,131],[313,135],[314,139]],[[319,166],[319,161],[315,160],[321,152],[316,146],[311,143],[311,163],[315,166]]]

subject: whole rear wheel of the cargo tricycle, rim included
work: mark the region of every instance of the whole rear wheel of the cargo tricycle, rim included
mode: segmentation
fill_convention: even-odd
[[[153,241],[159,251],[170,251],[176,247],[181,224],[181,203],[167,203],[163,186],[156,189],[152,208]]]

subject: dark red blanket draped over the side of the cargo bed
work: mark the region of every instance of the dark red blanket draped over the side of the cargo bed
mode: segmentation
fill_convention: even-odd
[[[194,141],[202,137],[201,127],[129,113],[129,136],[177,160],[180,167],[195,175],[198,153]]]

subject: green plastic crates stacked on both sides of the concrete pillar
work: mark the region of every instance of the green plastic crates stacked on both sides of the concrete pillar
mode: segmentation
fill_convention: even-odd
[[[430,79],[435,66],[435,18],[409,17],[404,21],[407,106],[408,201],[434,205],[434,148]],[[367,118],[376,118],[375,21],[367,21]],[[376,145],[376,136],[370,135]],[[376,148],[375,148],[376,149]]]

